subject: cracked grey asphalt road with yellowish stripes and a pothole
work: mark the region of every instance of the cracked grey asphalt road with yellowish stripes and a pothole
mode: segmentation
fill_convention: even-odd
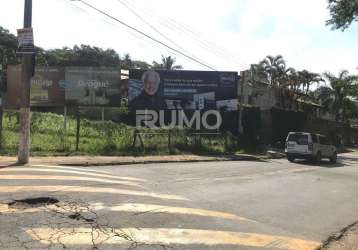
[[[320,166],[9,167],[0,249],[315,249],[358,221],[357,190],[358,153]],[[38,197],[59,202],[14,203]]]

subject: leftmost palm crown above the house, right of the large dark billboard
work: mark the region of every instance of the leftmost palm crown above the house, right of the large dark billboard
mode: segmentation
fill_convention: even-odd
[[[286,72],[286,62],[281,55],[267,56],[259,66],[265,72],[271,86],[280,85],[280,79],[282,80]]]

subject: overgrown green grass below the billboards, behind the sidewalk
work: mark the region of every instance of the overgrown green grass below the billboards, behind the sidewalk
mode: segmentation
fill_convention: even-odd
[[[16,155],[18,149],[18,114],[4,112],[2,155]],[[202,155],[232,154],[236,152],[236,139],[224,135],[201,136],[200,143],[194,140],[189,130],[171,130],[168,146],[168,131],[142,129],[144,147],[139,140],[132,146],[135,128],[112,121],[81,119],[79,151],[76,151],[76,120],[53,113],[33,112],[31,118],[31,154],[48,155],[168,155],[195,153]],[[156,133],[155,135],[148,133]]]

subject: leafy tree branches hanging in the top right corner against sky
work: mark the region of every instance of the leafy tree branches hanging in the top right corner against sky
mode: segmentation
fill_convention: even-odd
[[[353,21],[358,20],[358,0],[328,0],[331,14],[326,24],[332,29],[347,29]]]

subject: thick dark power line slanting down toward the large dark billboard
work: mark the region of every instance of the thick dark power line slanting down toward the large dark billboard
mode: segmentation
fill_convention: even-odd
[[[156,38],[154,38],[154,37],[152,37],[152,36],[150,36],[150,35],[144,33],[143,31],[140,31],[140,30],[138,30],[137,28],[134,28],[134,27],[132,27],[131,25],[129,25],[129,24],[127,24],[127,23],[125,23],[125,22],[119,20],[118,18],[116,18],[116,17],[114,17],[114,16],[112,16],[112,15],[110,15],[110,14],[108,14],[108,13],[106,13],[106,12],[104,12],[104,11],[98,9],[98,8],[96,8],[95,6],[93,6],[93,5],[89,4],[89,3],[87,3],[86,1],[83,1],[83,0],[71,0],[71,1],[81,2],[81,3],[83,3],[84,5],[90,7],[91,9],[93,9],[93,10],[95,10],[95,11],[97,11],[97,12],[99,12],[99,13],[101,13],[101,14],[107,16],[107,17],[109,17],[110,19],[115,20],[116,22],[118,22],[118,23],[120,23],[120,24],[126,26],[127,28],[129,28],[129,29],[131,29],[131,30],[134,30],[135,32],[141,34],[142,36],[145,36],[145,37],[147,37],[148,39],[150,39],[150,40],[152,40],[152,41],[154,41],[154,42],[156,42],[156,43],[159,43],[159,44],[161,44],[162,46],[164,46],[164,47],[166,47],[166,48],[168,48],[168,49],[170,49],[170,50],[172,50],[172,51],[174,51],[174,52],[176,52],[176,53],[178,53],[178,54],[180,54],[180,55],[182,55],[182,56],[184,56],[184,57],[186,57],[186,58],[188,58],[188,59],[190,59],[190,60],[192,60],[192,61],[194,61],[194,62],[196,62],[196,63],[198,63],[198,64],[200,64],[200,65],[202,65],[202,66],[204,66],[204,67],[206,67],[206,68],[209,68],[209,69],[211,69],[211,70],[217,71],[215,68],[213,68],[213,67],[207,65],[206,63],[203,63],[203,62],[199,61],[198,59],[195,59],[194,57],[192,57],[192,56],[190,56],[190,55],[187,55],[187,54],[185,54],[185,53],[183,53],[183,52],[181,52],[181,51],[179,51],[179,50],[173,48],[172,46],[169,46],[169,45],[165,44],[164,42],[159,41],[158,39],[156,39]]]

